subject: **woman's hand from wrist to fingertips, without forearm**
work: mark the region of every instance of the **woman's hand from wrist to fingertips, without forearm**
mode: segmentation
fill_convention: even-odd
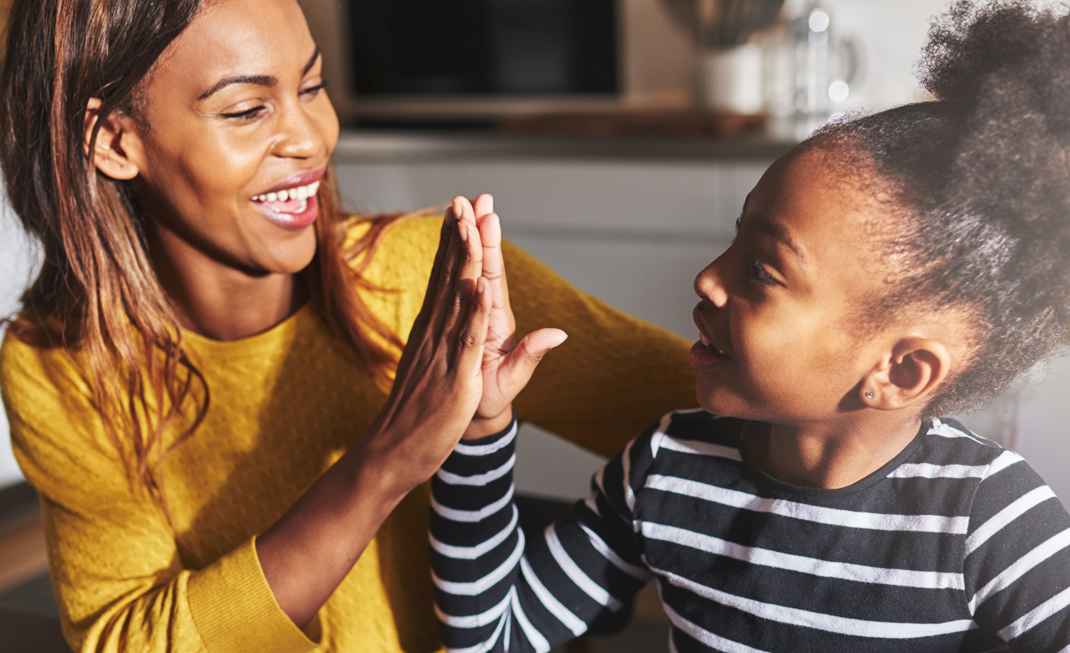
[[[460,215],[460,220],[454,215]],[[404,492],[449,455],[483,395],[492,289],[480,277],[483,245],[471,211],[447,213],[419,315],[389,399],[368,431],[368,460]]]

